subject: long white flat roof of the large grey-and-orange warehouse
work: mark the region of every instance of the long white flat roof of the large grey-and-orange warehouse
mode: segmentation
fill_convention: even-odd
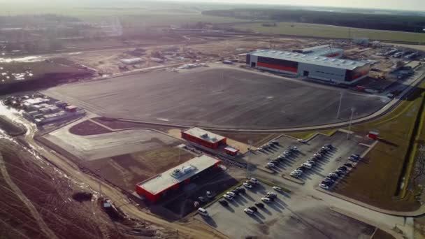
[[[296,52],[287,52],[280,50],[256,50],[250,52],[250,55],[258,57],[270,57],[274,59],[283,59],[287,61],[297,61],[305,64],[315,64],[318,66],[329,66],[333,68],[341,68],[346,70],[354,70],[357,67],[366,66],[366,62],[352,61],[349,59],[336,59],[332,57],[318,57]]]

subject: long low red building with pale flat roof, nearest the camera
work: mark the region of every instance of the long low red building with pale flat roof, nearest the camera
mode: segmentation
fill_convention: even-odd
[[[206,155],[190,159],[179,166],[168,169],[164,173],[138,183],[136,192],[151,202],[158,201],[168,191],[178,190],[184,187],[185,184],[189,184],[191,179],[194,180],[194,178],[201,176],[203,173],[208,173],[213,168],[217,168],[220,162],[219,159]]]

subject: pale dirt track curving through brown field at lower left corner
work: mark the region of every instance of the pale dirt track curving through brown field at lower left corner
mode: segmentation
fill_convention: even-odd
[[[3,175],[4,180],[9,185],[10,189],[12,189],[15,192],[16,196],[20,198],[20,200],[27,206],[27,208],[29,209],[29,212],[31,212],[31,215],[34,217],[34,219],[36,219],[38,226],[40,226],[41,231],[45,233],[45,236],[47,236],[48,238],[57,238],[55,233],[53,233],[53,231],[50,230],[48,225],[45,224],[43,218],[38,213],[38,211],[36,210],[34,205],[31,203],[31,201],[29,201],[29,199],[22,193],[21,189],[17,187],[17,185],[10,178],[5,162],[3,160],[3,155],[1,154],[0,154],[0,171],[1,171],[1,175]]]

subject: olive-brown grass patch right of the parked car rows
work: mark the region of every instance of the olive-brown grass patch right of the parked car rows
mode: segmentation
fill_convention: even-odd
[[[398,182],[408,160],[410,140],[424,98],[425,82],[380,119],[352,127],[361,135],[380,132],[380,143],[366,155],[352,173],[340,182],[335,191],[350,198],[388,210],[410,211],[419,208],[412,194],[396,198]],[[407,185],[406,185],[407,186]]]

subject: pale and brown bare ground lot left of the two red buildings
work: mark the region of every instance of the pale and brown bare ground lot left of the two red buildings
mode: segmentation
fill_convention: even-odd
[[[73,154],[80,166],[128,191],[134,191],[136,183],[194,157],[175,147],[182,141],[157,131],[103,131],[89,136],[71,133],[69,130],[80,127],[80,122],[87,121],[52,131],[43,136],[43,141],[48,140],[61,154]]]

